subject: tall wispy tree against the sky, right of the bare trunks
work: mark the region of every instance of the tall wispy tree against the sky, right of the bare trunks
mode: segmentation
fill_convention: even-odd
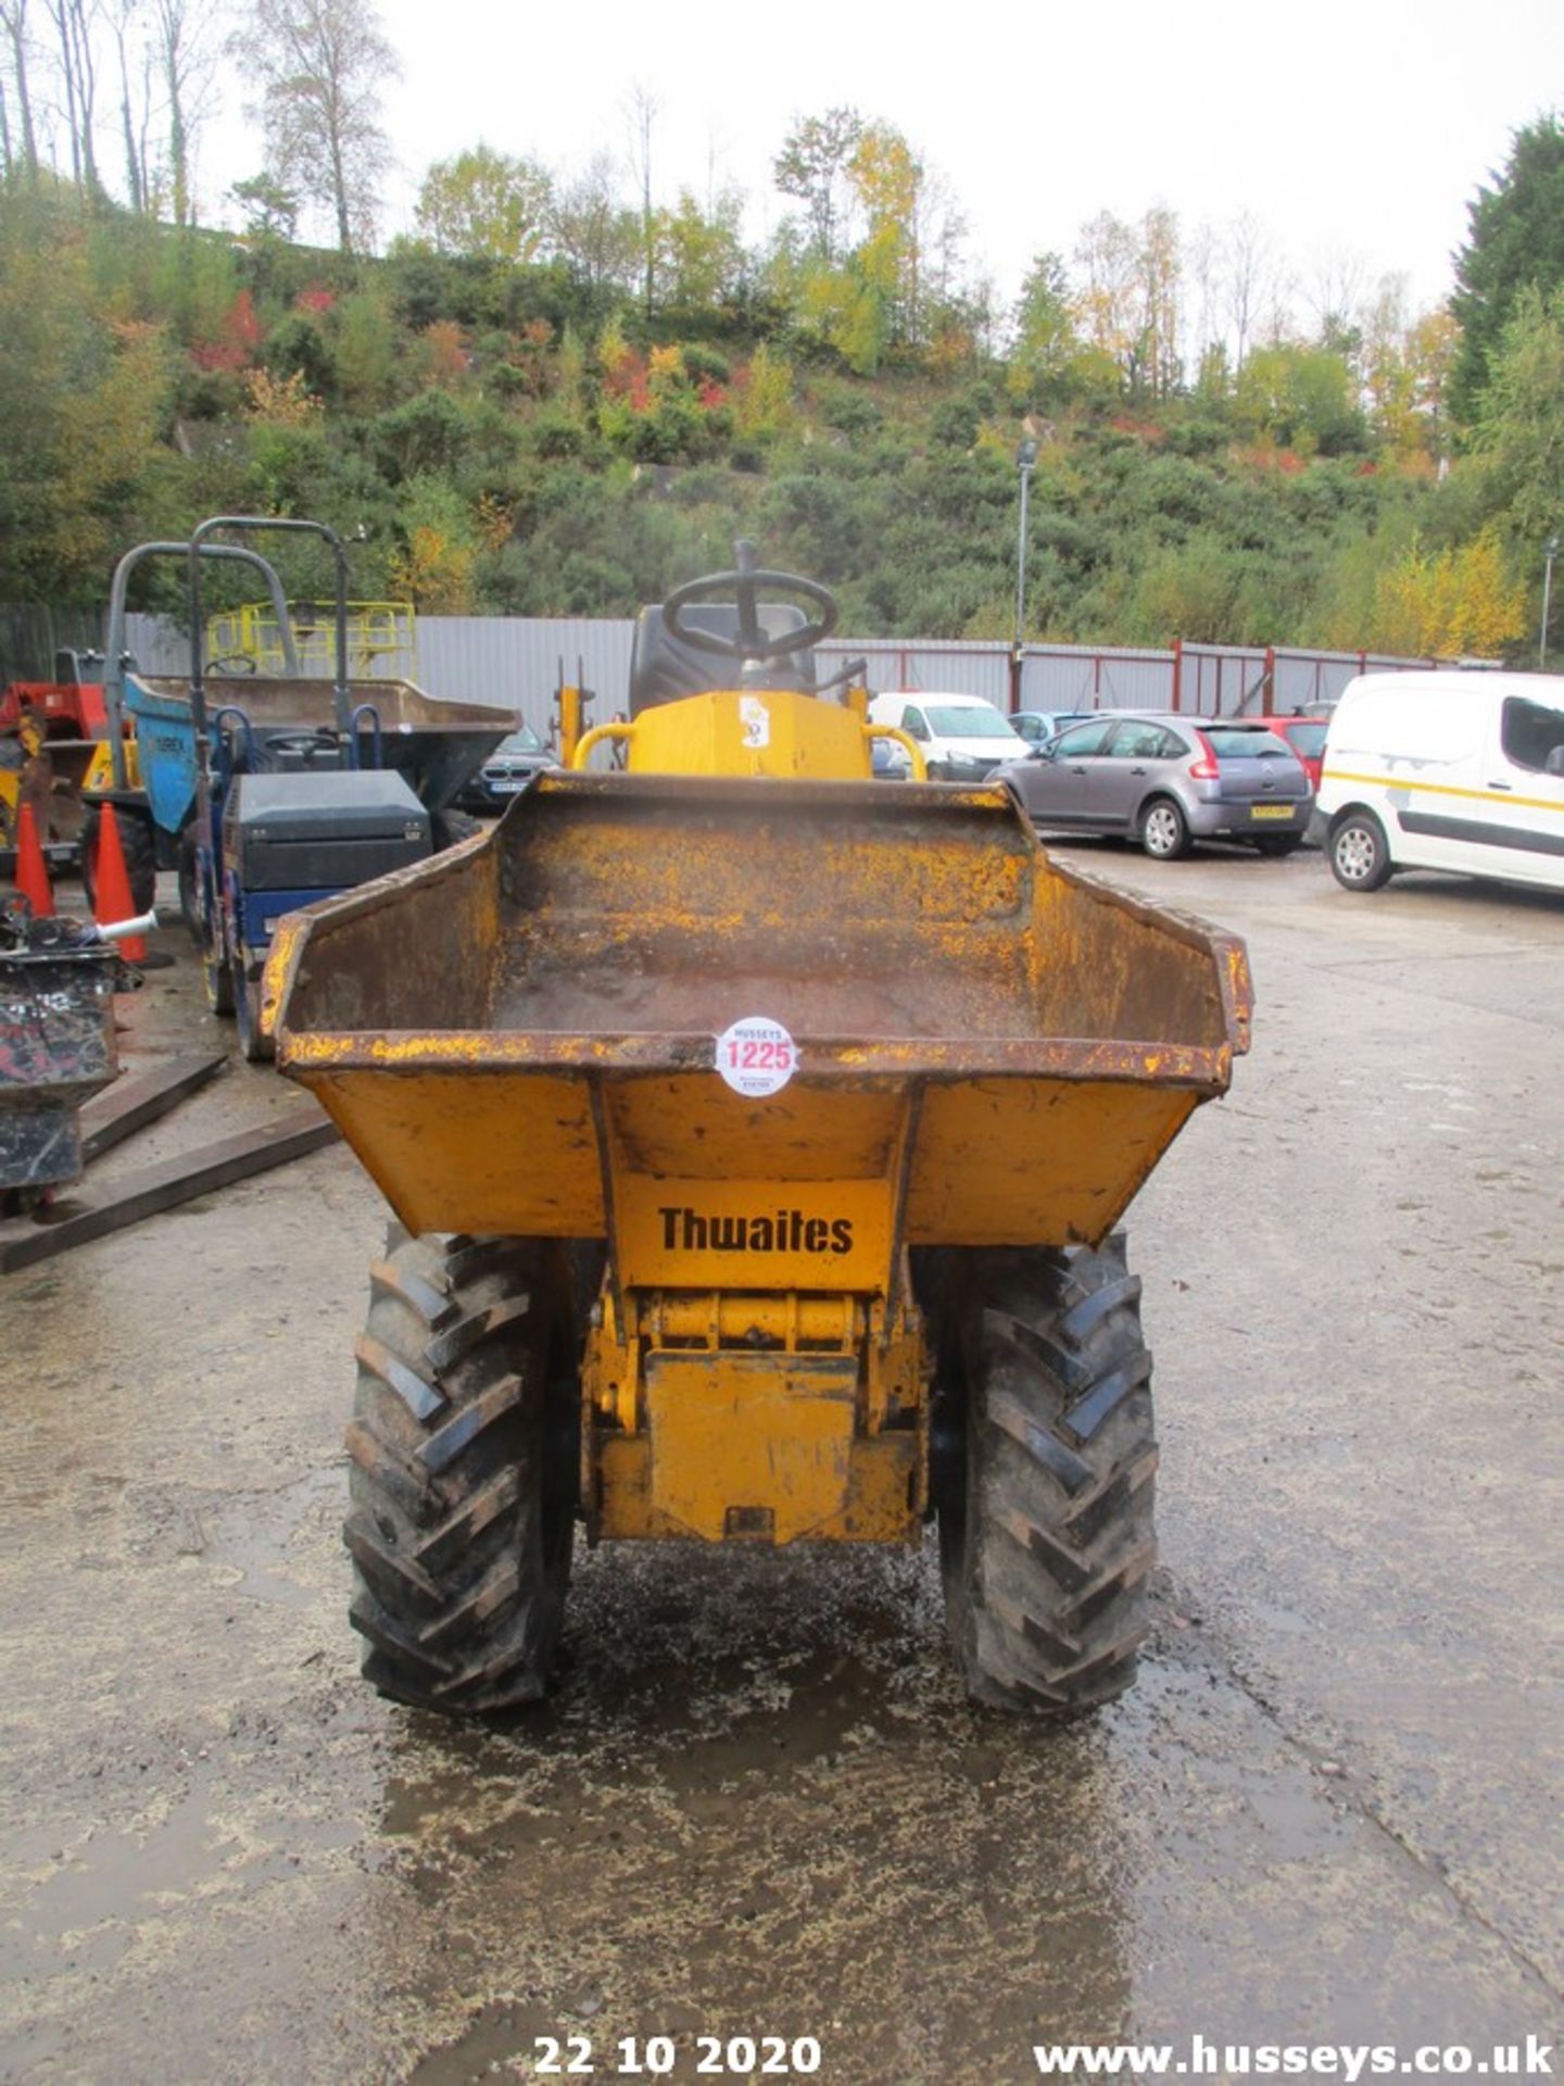
[[[252,0],[234,48],[261,81],[273,177],[332,213],[342,252],[367,246],[392,161],[380,86],[400,73],[369,0]]]

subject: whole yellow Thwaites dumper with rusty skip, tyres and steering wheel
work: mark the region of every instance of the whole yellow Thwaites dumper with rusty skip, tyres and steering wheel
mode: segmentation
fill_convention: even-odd
[[[576,1521],[936,1514],[974,1696],[1132,1675],[1157,1448],[1114,1227],[1247,1047],[1245,953],[1051,864],[1003,789],[870,780],[861,697],[811,693],[830,613],[740,547],[642,620],[573,772],[279,928],[277,1062],[400,1220],[346,1542],[405,1702],[544,1690]],[[584,772],[605,734],[626,770]]]

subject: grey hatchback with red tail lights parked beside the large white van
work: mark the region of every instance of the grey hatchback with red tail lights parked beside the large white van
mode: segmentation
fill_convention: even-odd
[[[1193,839],[1291,855],[1314,803],[1303,763],[1264,724],[1149,711],[1072,724],[995,780],[1041,830],[1120,832],[1164,862]]]

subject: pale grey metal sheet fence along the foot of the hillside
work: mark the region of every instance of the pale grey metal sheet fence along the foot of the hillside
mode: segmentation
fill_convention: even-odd
[[[582,686],[594,693],[588,713],[592,724],[607,724],[624,713],[634,628],[630,617],[421,615],[417,661],[388,657],[377,661],[375,672],[415,672],[421,688],[450,701],[500,703],[546,738],[555,722],[561,672],[567,680],[580,676]],[[127,645],[148,674],[190,672],[188,638],[158,617],[129,615]],[[1009,645],[832,636],[815,647],[815,657],[822,676],[838,672],[849,659],[865,659],[876,695],[888,688],[984,695],[999,709],[1011,707]],[[1178,709],[1203,718],[1287,715],[1333,701],[1353,674],[1449,663],[1274,645],[1028,645],[1016,707]]]

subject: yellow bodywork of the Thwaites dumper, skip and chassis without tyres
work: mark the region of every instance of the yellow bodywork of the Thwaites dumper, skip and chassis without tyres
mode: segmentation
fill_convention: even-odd
[[[797,695],[659,734],[738,763],[740,703],[788,772],[807,711],[867,766]],[[1097,1245],[1249,1014],[1239,943],[1061,870],[1003,791],[713,772],[538,778],[286,922],[265,997],[411,1233],[605,1241],[588,1531],[751,1542],[920,1533],[909,1252]],[[772,1093],[719,1076],[747,1018],[790,1043]]]

